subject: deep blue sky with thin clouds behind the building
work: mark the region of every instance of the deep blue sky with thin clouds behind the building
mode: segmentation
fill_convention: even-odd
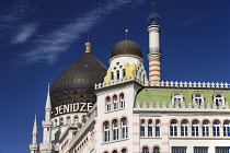
[[[84,52],[108,67],[112,47],[139,44],[148,70],[152,0],[0,1],[0,153],[28,153],[34,113],[42,120],[47,84]],[[156,0],[161,16],[162,80],[230,83],[230,1]]]

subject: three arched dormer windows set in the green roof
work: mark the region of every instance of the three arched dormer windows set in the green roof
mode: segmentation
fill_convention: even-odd
[[[212,96],[214,98],[214,104],[216,106],[225,106],[225,95],[222,93],[216,93]],[[184,96],[181,92],[174,92],[172,94],[172,105],[179,105],[182,106]],[[202,92],[195,92],[193,94],[193,103],[196,104],[197,106],[204,105],[205,95]]]

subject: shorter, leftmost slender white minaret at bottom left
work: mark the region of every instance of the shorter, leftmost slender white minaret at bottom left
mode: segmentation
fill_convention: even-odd
[[[37,145],[37,120],[36,120],[36,114],[34,119],[34,127],[32,132],[32,144],[30,145],[31,153],[37,153],[38,145]]]

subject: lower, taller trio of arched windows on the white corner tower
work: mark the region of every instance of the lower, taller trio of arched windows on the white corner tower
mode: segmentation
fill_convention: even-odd
[[[114,119],[112,121],[112,127],[110,127],[110,122],[105,121],[103,123],[103,141],[110,142],[120,139],[128,138],[128,123],[127,119],[124,117],[120,119],[122,125],[118,125],[118,120]]]

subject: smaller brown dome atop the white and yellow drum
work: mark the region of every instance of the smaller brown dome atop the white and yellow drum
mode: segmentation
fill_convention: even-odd
[[[111,51],[111,58],[118,55],[135,55],[142,58],[139,45],[133,40],[122,40],[117,43]]]

